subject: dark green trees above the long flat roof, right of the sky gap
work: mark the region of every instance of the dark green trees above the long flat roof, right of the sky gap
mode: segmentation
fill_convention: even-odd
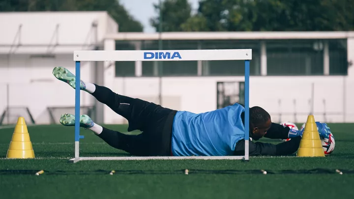
[[[200,0],[195,15],[182,1],[163,3],[164,31],[354,30],[354,0]]]

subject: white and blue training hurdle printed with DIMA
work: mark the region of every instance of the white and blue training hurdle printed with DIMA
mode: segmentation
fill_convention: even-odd
[[[198,60],[244,60],[245,64],[245,154],[244,156],[153,156],[153,157],[80,157],[79,142],[84,136],[80,135],[80,81],[75,88],[75,158],[69,162],[81,160],[178,160],[178,159],[243,159],[249,160],[249,75],[252,49],[223,49],[223,50],[170,50],[170,51],[74,51],[76,79],[80,80],[81,61],[198,61]]]

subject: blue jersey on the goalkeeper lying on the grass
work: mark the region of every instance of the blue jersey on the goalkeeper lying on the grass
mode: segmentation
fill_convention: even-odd
[[[177,112],[172,127],[172,154],[233,155],[236,142],[244,139],[242,112],[244,108],[237,103],[202,114]]]

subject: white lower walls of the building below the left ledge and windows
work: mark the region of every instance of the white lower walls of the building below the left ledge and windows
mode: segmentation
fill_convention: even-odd
[[[349,61],[354,60],[353,52],[354,39],[348,39]],[[104,85],[117,93],[158,103],[158,78],[115,77],[114,67],[105,63]],[[83,80],[93,81],[93,64],[82,63]],[[47,107],[74,106],[74,90],[52,75],[55,66],[67,67],[75,72],[72,54],[56,55],[54,58],[27,54],[0,55],[0,112],[6,106],[26,106],[37,123],[48,123]],[[216,83],[219,81],[243,81],[243,77],[163,77],[162,105],[195,113],[214,110]],[[310,112],[312,84],[315,91],[314,111],[320,113],[315,114],[317,120],[354,122],[354,105],[351,103],[354,97],[351,92],[354,87],[353,66],[349,68],[348,76],[251,76],[250,106],[264,107],[272,114],[274,121],[280,120],[279,114],[282,113],[282,121],[303,122]],[[93,97],[86,92],[81,93],[81,105],[92,105]],[[104,110],[105,123],[126,122],[109,108]],[[293,115],[295,112],[296,118]]]

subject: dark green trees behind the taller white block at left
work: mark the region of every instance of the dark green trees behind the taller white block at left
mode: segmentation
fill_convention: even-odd
[[[142,24],[118,0],[0,0],[0,11],[107,11],[118,23],[119,32],[143,31]]]

